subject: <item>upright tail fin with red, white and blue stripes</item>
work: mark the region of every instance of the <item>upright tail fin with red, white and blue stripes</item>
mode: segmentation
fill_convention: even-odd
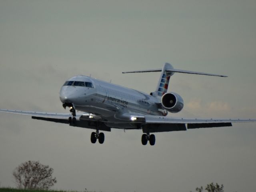
[[[153,96],[162,97],[167,92],[170,76],[174,74],[174,72],[166,71],[168,69],[173,69],[173,66],[170,63],[165,63]]]

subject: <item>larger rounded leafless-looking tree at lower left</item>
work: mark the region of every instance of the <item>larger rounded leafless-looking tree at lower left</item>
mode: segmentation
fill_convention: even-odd
[[[18,188],[49,189],[57,182],[52,177],[53,168],[39,161],[27,161],[16,167],[12,173]]]

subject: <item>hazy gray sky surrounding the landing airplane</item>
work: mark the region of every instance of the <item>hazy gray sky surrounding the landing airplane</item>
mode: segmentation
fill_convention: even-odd
[[[183,117],[256,118],[256,1],[0,0],[0,108],[67,112],[59,100],[77,74],[151,92],[175,68],[228,78],[175,74],[170,91]],[[210,182],[225,192],[256,188],[256,124],[156,133],[113,129],[103,145],[92,130],[0,114],[0,183],[26,160],[54,168],[55,189],[188,192]]]

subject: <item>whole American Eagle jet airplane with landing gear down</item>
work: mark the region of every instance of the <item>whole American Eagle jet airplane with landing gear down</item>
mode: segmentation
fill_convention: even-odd
[[[70,113],[46,113],[0,109],[0,112],[31,116],[32,119],[69,124],[69,126],[96,130],[91,134],[91,142],[104,143],[105,136],[100,131],[111,128],[142,130],[141,142],[154,145],[152,133],[186,131],[195,128],[232,126],[235,122],[256,122],[256,119],[191,119],[173,118],[168,112],[180,112],[184,106],[182,97],[168,92],[170,77],[174,73],[200,74],[227,77],[218,74],[174,69],[165,63],[162,69],[128,71],[123,73],[161,72],[156,90],[150,94],[112,84],[96,78],[78,75],[68,79],[60,89],[62,106]],[[79,111],[79,112],[76,112]]]

